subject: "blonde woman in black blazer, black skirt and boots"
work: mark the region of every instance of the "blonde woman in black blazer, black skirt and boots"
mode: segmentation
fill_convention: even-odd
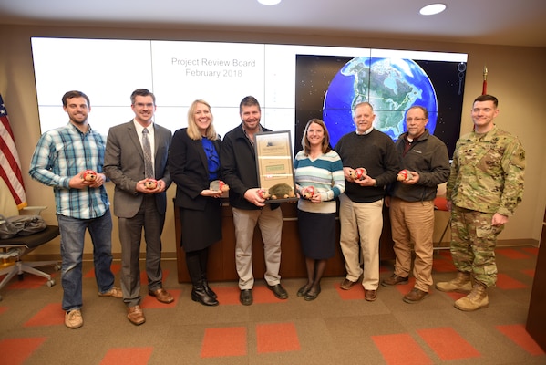
[[[221,192],[209,189],[220,176],[221,138],[214,130],[211,106],[195,100],[188,110],[188,128],[177,130],[170,144],[169,170],[176,183],[182,238],[191,277],[191,299],[217,306],[207,280],[209,246],[221,240]]]

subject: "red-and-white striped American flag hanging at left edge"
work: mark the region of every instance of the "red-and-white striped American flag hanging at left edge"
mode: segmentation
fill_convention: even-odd
[[[0,177],[14,197],[17,208],[26,207],[25,185],[21,162],[15,148],[14,133],[9,125],[4,99],[0,95]]]

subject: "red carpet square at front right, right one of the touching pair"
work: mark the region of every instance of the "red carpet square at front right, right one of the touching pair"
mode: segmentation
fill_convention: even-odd
[[[441,360],[479,358],[481,355],[453,328],[418,329],[421,336]]]

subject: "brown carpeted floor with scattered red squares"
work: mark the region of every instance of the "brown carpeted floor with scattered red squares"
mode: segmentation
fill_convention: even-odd
[[[191,301],[189,284],[179,284],[176,262],[162,262],[164,287],[172,304],[145,296],[147,321],[136,327],[120,299],[98,297],[92,263],[84,265],[84,326],[68,329],[61,309],[62,287],[46,279],[16,277],[2,290],[0,363],[15,364],[546,364],[546,355],[525,331],[538,249],[497,250],[498,286],[489,308],[462,312],[459,294],[431,289],[418,304],[402,296],[412,287],[379,287],[366,302],[358,285],[339,288],[342,277],[327,277],[311,302],[296,297],[304,279],[283,280],[287,300],[273,297],[258,280],[254,304],[239,303],[235,282],[211,283],[221,305]],[[381,276],[390,276],[383,262]],[[119,262],[113,270],[117,276]],[[454,276],[448,251],[435,255],[433,276]],[[146,280],[144,279],[144,282]],[[146,287],[142,287],[146,293]]]

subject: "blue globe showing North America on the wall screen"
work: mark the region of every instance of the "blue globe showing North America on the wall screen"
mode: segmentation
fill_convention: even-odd
[[[355,130],[352,110],[362,101],[374,107],[374,127],[394,141],[407,130],[405,112],[413,105],[427,108],[427,128],[434,133],[436,92],[427,73],[411,59],[355,57],[337,72],[326,91],[323,109],[332,146]]]

